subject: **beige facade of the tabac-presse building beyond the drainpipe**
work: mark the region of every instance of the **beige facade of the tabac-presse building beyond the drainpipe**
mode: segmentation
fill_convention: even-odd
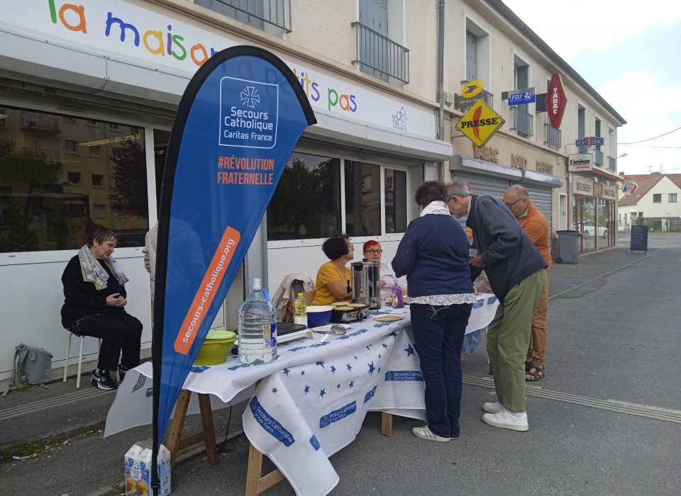
[[[505,120],[484,147],[477,147],[453,129],[462,115],[453,98],[448,107],[452,176],[470,183],[474,193],[497,196],[511,184],[522,184],[548,218],[554,240],[558,230],[584,232],[585,218],[591,218],[609,227],[609,235],[596,241],[583,236],[580,251],[616,246],[616,143],[624,119],[501,1],[446,6],[451,35],[446,38],[445,91],[460,94],[467,81],[482,81],[489,93],[486,103]],[[551,127],[539,101],[509,106],[508,99],[523,89],[534,89],[543,99],[554,73],[560,74],[567,101],[559,129]],[[575,140],[583,137],[603,137],[604,145],[577,147]],[[577,152],[593,155],[588,174],[568,172],[567,157]],[[588,183],[589,192],[577,191],[575,180]]]

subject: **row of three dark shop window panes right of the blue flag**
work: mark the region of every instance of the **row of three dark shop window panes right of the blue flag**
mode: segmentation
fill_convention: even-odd
[[[378,164],[296,152],[267,208],[267,239],[404,232],[406,178],[406,171]]]

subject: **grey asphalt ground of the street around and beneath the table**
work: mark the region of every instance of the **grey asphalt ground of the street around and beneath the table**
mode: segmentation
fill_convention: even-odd
[[[400,417],[387,438],[370,414],[355,442],[331,457],[341,478],[331,494],[681,494],[681,235],[651,234],[647,254],[631,254],[621,237],[619,249],[553,267],[546,378],[528,387],[528,432],[481,422],[480,406],[494,396],[480,346],[464,361],[458,441],[416,439],[420,422]],[[227,415],[216,413],[219,440]],[[4,463],[0,494],[120,494],[123,454],[149,434],[84,435]],[[243,494],[247,461],[243,435],[228,441],[218,466],[188,456],[172,473],[173,494]],[[293,494],[285,481],[265,492]]]

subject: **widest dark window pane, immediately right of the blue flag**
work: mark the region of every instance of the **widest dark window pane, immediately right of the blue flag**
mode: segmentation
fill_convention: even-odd
[[[293,153],[267,208],[267,239],[326,238],[341,232],[341,160]]]

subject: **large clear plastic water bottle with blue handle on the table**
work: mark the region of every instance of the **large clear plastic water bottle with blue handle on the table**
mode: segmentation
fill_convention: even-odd
[[[277,356],[277,311],[253,279],[253,293],[239,308],[239,359],[258,365],[270,363]]]

